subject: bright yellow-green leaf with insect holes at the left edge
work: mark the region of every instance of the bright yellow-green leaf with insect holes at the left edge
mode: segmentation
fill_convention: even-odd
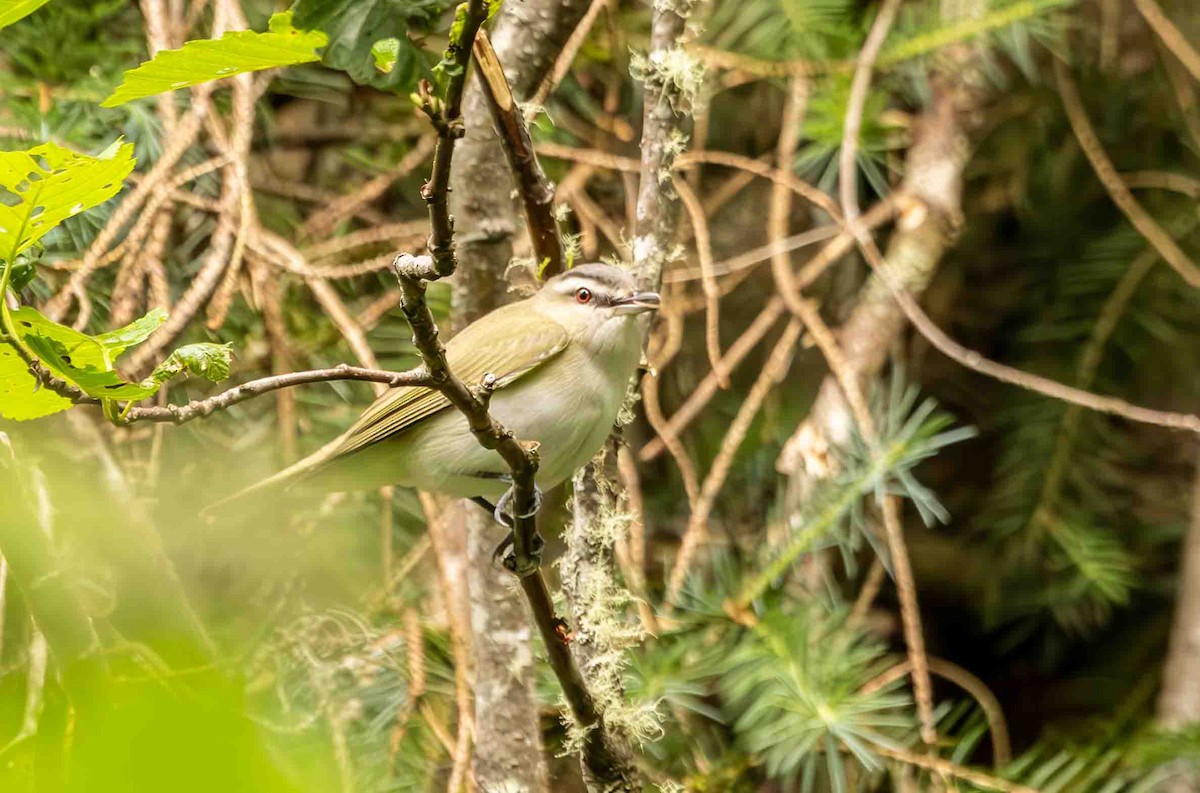
[[[0,259],[12,263],[55,226],[104,203],[133,170],[133,144],[100,157],[53,143],[0,152]]]

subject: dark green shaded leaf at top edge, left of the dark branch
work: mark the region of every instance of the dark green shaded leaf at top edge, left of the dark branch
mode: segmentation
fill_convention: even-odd
[[[412,35],[432,30],[450,6],[446,0],[299,0],[296,24],[329,34],[324,62],[355,83],[390,91],[410,91],[433,58]],[[377,44],[395,40],[390,70],[379,66]],[[386,44],[391,47],[391,44]]]

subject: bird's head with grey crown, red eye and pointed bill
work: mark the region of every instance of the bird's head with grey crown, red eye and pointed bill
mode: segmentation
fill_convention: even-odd
[[[581,264],[546,282],[534,300],[576,338],[605,347],[656,311],[656,292],[642,292],[634,276],[611,264]]]

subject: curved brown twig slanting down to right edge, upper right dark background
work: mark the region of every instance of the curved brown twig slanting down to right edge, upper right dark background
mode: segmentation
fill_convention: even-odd
[[[1075,80],[1072,79],[1067,67],[1058,60],[1054,61],[1054,73],[1058,82],[1058,94],[1062,96],[1063,108],[1067,110],[1067,119],[1070,128],[1075,132],[1079,146],[1092,163],[1097,179],[1104,185],[1109,198],[1117,205],[1124,216],[1133,223],[1133,227],[1154,246],[1159,256],[1166,260],[1171,269],[1180,274],[1190,287],[1200,287],[1200,269],[1188,258],[1188,254],[1171,239],[1171,235],[1151,217],[1150,212],[1142,209],[1138,199],[1133,197],[1126,184],[1121,181],[1120,174],[1112,166],[1112,161],[1104,152],[1092,122],[1087,119],[1084,109],[1084,101],[1079,96]]]

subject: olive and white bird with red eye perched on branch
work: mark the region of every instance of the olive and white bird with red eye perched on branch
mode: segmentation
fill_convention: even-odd
[[[658,307],[659,295],[638,292],[620,268],[583,264],[464,328],[446,343],[446,361],[467,385],[496,378],[491,413],[516,438],[538,441],[536,483],[550,488],[604,444],[641,360],[637,317]],[[474,499],[503,521],[508,474],[444,396],[406,386],[313,455],[214,507],[300,482],[320,491],[400,485]]]

